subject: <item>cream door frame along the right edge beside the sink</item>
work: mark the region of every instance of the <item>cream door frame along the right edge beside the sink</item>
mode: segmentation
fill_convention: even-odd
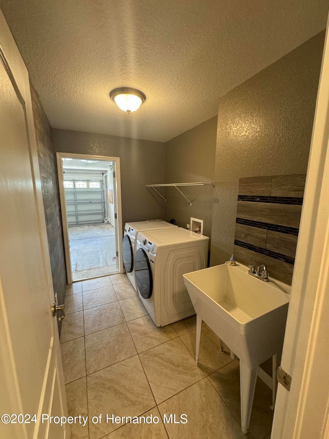
[[[329,25],[329,21],[328,21]],[[308,162],[272,439],[329,437],[329,39]]]

